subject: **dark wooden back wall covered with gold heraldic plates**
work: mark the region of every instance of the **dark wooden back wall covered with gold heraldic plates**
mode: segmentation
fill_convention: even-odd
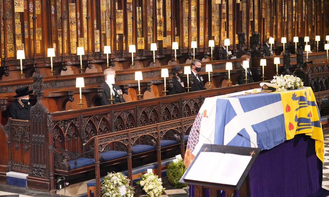
[[[85,48],[83,64],[90,68],[86,72],[102,71],[105,45],[111,46],[115,70],[131,68],[130,44],[136,45],[139,68],[153,66],[151,43],[158,45],[157,65],[168,65],[173,64],[174,41],[179,42],[179,63],[185,63],[193,51],[191,41],[197,41],[200,59],[210,54],[210,39],[215,40],[216,58],[226,37],[235,54],[238,33],[245,33],[240,44],[248,50],[254,32],[260,33],[260,49],[268,36],[275,38],[275,48],[282,46],[283,36],[288,47],[293,46],[293,36],[309,36],[315,47],[316,35],[321,36],[323,49],[329,34],[328,8],[326,0],[1,0],[0,78],[20,78],[18,49],[25,50],[25,77],[31,77],[37,66],[44,67],[40,72],[45,77],[50,75],[47,48],[56,51],[55,75],[78,74],[70,65],[79,64],[79,46]]]

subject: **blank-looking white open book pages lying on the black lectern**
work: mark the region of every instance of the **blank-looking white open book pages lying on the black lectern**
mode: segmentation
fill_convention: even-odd
[[[185,179],[237,185],[251,156],[201,152]]]

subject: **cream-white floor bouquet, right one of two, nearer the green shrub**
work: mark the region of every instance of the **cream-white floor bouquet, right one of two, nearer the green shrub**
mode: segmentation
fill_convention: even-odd
[[[146,192],[147,197],[157,197],[164,192],[162,180],[158,175],[147,173],[140,176],[140,180],[136,182]]]

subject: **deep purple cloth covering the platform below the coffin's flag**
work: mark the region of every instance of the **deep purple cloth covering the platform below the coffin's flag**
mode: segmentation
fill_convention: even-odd
[[[329,191],[322,188],[322,162],[315,154],[315,140],[299,134],[261,151],[249,172],[249,190],[251,197],[328,196]],[[209,196],[208,189],[204,192]],[[190,196],[194,197],[194,186],[190,186]]]

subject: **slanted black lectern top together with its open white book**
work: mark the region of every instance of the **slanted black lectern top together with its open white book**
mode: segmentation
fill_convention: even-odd
[[[224,145],[212,145],[210,149],[210,144],[203,144],[181,182],[240,189],[260,150]]]

